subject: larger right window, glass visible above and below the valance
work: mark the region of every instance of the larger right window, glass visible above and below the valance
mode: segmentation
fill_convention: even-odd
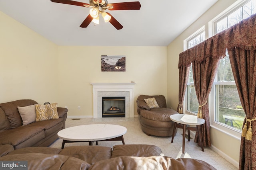
[[[231,27],[255,12],[255,2],[253,0],[245,1],[232,13],[214,22],[215,33]],[[234,81],[228,53],[224,59],[220,60],[213,88],[215,96],[214,121],[230,129],[242,131],[245,114]]]

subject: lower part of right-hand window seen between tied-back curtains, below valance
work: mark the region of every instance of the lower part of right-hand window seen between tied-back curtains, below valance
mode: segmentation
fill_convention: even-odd
[[[242,108],[228,53],[220,60],[213,85],[215,96],[214,121],[234,130],[242,131],[244,110]]]

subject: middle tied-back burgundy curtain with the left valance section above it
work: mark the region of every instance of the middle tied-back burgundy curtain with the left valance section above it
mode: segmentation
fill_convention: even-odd
[[[179,59],[180,69],[182,66],[189,67],[192,63],[196,96],[200,106],[198,108],[198,117],[205,120],[201,128],[204,147],[211,146],[210,115],[207,100],[214,82],[219,60],[225,57],[224,48],[222,51],[215,50],[220,47],[220,41],[223,39],[220,35],[217,37],[218,38],[209,38],[199,45],[180,53]],[[199,142],[198,133],[196,133],[195,142]]]

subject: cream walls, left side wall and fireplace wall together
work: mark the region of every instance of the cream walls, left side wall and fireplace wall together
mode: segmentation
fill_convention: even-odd
[[[0,103],[58,102],[92,117],[90,82],[136,82],[134,115],[140,94],[167,98],[167,47],[58,46],[2,12],[0,21]],[[126,72],[101,72],[101,55],[125,55]]]

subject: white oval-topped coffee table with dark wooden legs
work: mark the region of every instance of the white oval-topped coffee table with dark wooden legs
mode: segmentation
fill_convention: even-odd
[[[65,143],[71,142],[89,142],[93,145],[96,141],[122,141],[124,143],[123,135],[127,132],[126,127],[111,124],[92,124],[68,127],[58,132],[58,137],[63,139],[62,149]]]

